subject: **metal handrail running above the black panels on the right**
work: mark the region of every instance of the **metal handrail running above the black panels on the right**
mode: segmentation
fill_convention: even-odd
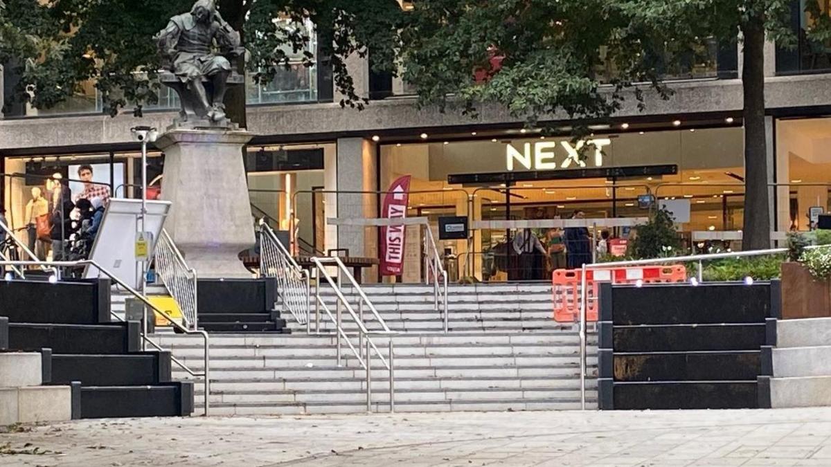
[[[811,245],[805,249],[831,248],[831,245]],[[580,278],[580,406],[586,410],[586,314],[588,311],[588,281],[586,273],[589,269],[621,268],[624,266],[648,266],[651,264],[663,263],[698,263],[698,283],[702,283],[702,263],[713,259],[725,258],[748,258],[753,256],[767,256],[770,254],[788,253],[788,248],[768,248],[762,250],[749,250],[731,253],[708,253],[691,254],[686,256],[675,256],[670,258],[632,259],[628,261],[614,261],[611,263],[583,264]],[[595,297],[597,299],[597,297]]]

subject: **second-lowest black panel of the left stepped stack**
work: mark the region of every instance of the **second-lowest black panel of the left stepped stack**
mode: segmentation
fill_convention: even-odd
[[[158,355],[53,355],[52,382],[81,381],[84,386],[145,386],[157,384]]]

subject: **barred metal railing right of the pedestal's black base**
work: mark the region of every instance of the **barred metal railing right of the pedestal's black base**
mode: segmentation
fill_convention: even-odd
[[[283,306],[288,308],[292,313],[294,319],[298,323],[306,324],[306,333],[311,332],[311,320],[309,319],[309,312],[312,309],[310,301],[310,278],[309,273],[297,264],[291,253],[288,253],[288,248],[283,245],[283,242],[274,234],[274,230],[265,222],[260,223],[260,251],[259,251],[259,274],[260,277],[274,277],[278,281],[280,290],[280,297],[283,298]],[[268,247],[273,248],[274,253],[277,253],[278,264],[269,267],[268,262]],[[283,264],[280,264],[283,263]],[[271,276],[270,274],[274,274]],[[293,278],[289,275],[293,274]],[[292,280],[299,280],[302,284],[302,296],[297,294],[297,284],[292,284]]]

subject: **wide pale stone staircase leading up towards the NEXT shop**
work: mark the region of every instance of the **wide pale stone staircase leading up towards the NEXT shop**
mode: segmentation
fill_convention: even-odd
[[[363,288],[394,339],[395,410],[577,410],[580,392],[579,335],[575,324],[552,319],[551,288],[543,284],[450,288],[449,328],[435,310],[434,289],[396,285]],[[356,291],[344,288],[356,307]],[[313,290],[312,290],[313,293]],[[321,297],[336,314],[333,292]],[[342,340],[337,363],[335,325],[321,312],[320,331],[285,313],[291,335],[229,334],[211,338],[212,415],[280,415],[366,411],[366,370]],[[342,311],[342,328],[356,343],[357,325]],[[381,323],[365,306],[370,329]],[[201,369],[198,338],[158,335],[162,347]],[[388,356],[389,337],[371,337]],[[587,408],[597,407],[597,339],[588,336]],[[176,378],[187,378],[174,369]],[[389,410],[389,371],[372,359],[371,410]],[[197,407],[204,394],[196,388]]]

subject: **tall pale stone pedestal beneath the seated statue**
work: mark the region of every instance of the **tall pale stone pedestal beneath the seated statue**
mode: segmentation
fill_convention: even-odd
[[[241,130],[168,130],[161,195],[165,229],[199,278],[251,278],[238,253],[255,243]]]

